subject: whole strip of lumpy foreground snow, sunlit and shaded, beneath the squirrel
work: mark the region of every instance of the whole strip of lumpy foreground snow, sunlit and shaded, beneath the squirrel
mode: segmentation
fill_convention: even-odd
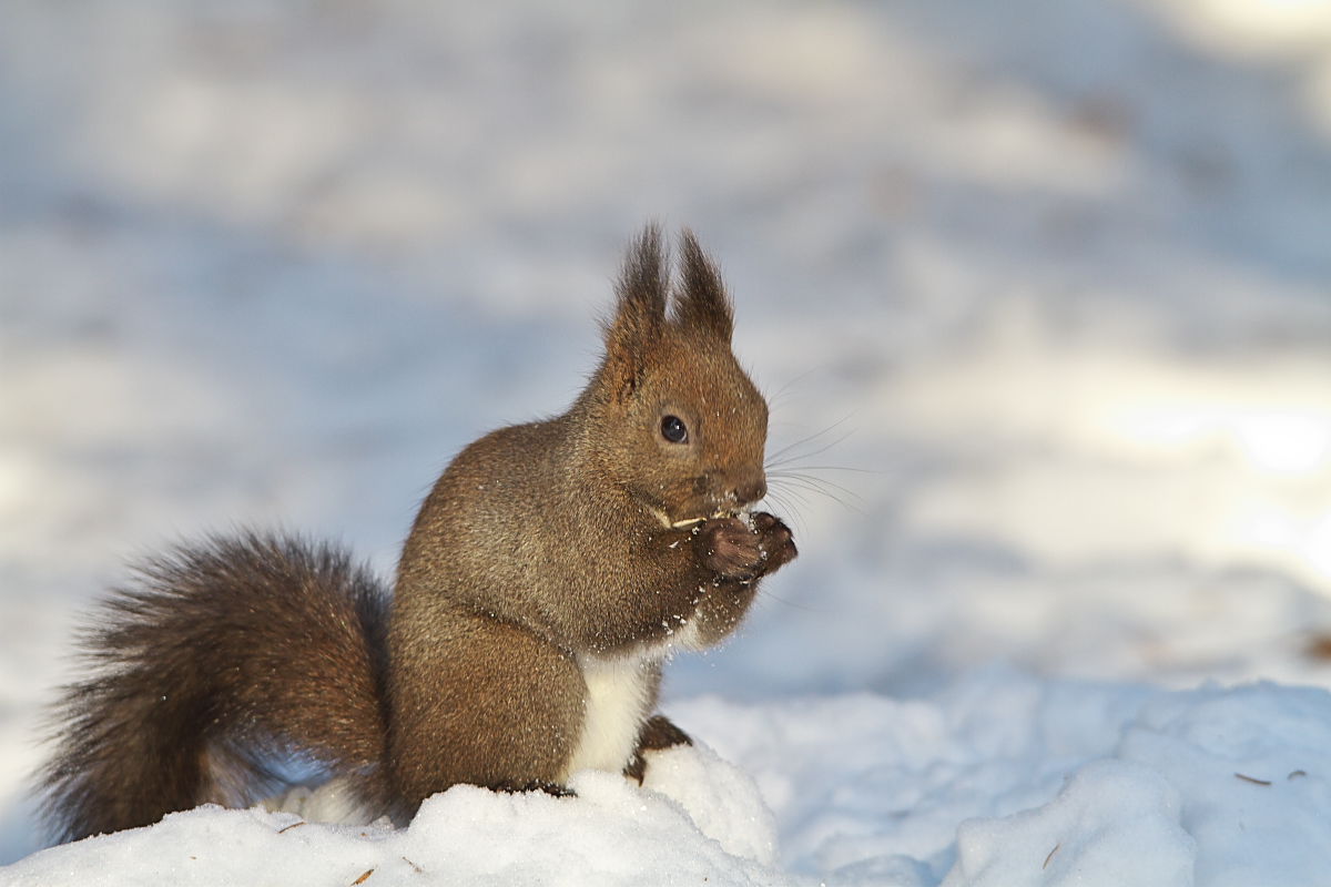
[[[205,807],[35,854],[0,884],[1284,887],[1331,871],[1331,693],[994,668],[929,699],[676,706],[724,739],[644,787],[457,786],[405,830]],[[752,774],[748,775],[748,774]]]

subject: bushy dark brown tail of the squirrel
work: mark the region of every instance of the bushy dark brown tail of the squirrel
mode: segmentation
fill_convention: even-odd
[[[83,637],[53,711],[44,811],[63,839],[272,790],[297,751],[386,805],[387,592],[346,552],[214,537],[150,561]],[[381,797],[377,797],[381,795]]]

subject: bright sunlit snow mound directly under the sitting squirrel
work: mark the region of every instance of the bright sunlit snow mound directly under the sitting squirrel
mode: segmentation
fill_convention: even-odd
[[[771,866],[771,814],[747,777],[705,750],[654,757],[659,790],[595,771],[574,778],[576,798],[455,786],[405,830],[206,806],[35,854],[0,883],[796,883]]]

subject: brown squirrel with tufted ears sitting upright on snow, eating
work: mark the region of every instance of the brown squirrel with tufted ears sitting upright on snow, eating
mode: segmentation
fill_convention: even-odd
[[[140,569],[83,638],[40,774],[63,839],[204,802],[254,803],[284,757],[406,822],[455,783],[568,794],[642,781],[688,743],[652,714],[662,664],[728,636],[796,556],[767,493],[767,403],[688,231],[630,246],[606,351],[560,416],[466,447],[421,508],[391,592],[342,551],[238,535]]]

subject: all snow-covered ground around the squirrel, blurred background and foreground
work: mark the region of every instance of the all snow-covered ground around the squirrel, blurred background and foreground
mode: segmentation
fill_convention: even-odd
[[[4,5],[0,883],[1323,883],[1331,8],[567,5]],[[576,392],[650,217],[832,493],[672,666],[715,754],[29,856],[125,560],[390,569],[451,452]]]

